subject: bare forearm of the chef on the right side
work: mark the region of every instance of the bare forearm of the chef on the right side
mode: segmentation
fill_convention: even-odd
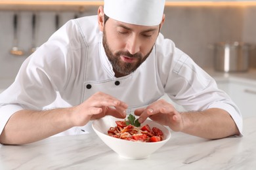
[[[220,139],[240,132],[230,114],[222,109],[182,113],[182,132],[206,139]]]

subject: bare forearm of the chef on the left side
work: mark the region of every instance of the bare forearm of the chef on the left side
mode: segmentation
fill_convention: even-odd
[[[0,135],[2,144],[26,144],[45,139],[72,127],[69,109],[20,110]]]

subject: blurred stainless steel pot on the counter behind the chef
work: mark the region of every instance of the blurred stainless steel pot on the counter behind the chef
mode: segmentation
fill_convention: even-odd
[[[214,46],[215,70],[224,72],[248,71],[251,44],[243,42],[218,42]]]

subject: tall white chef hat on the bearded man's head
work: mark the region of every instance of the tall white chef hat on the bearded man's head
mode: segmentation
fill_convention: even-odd
[[[104,0],[104,13],[114,20],[136,25],[159,25],[165,0]]]

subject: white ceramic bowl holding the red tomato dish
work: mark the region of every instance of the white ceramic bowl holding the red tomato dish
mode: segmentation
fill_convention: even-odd
[[[123,139],[117,139],[108,135],[108,129],[116,126],[116,120],[124,120],[114,118],[113,116],[105,116],[104,118],[93,121],[93,129],[100,137],[100,139],[114,150],[119,156],[127,159],[144,159],[150,156],[153,152],[158,150],[163,144],[165,144],[170,138],[171,133],[169,129],[160,124],[153,122],[152,120],[146,120],[141,124],[148,124],[150,128],[158,127],[163,131],[163,141],[156,143],[142,143],[135,141],[126,141]]]

